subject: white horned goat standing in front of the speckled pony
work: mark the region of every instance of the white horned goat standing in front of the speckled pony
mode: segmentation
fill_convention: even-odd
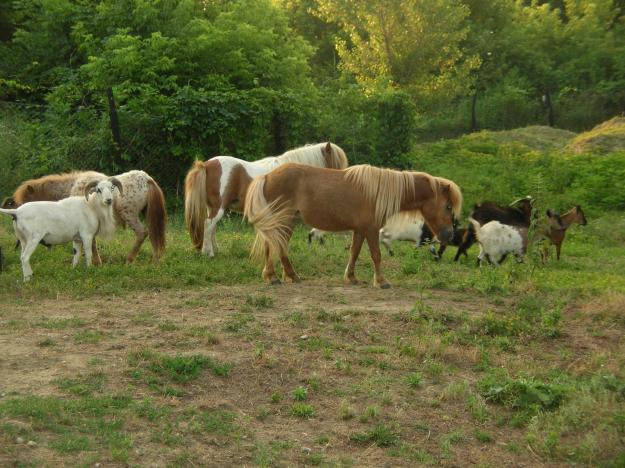
[[[0,213],[13,217],[13,229],[22,248],[24,281],[33,276],[29,260],[40,242],[44,245],[73,242],[73,267],[80,260],[82,244],[87,266],[90,266],[92,240],[96,235],[110,237],[115,231],[113,201],[118,193],[122,193],[122,184],[111,177],[89,183],[84,197],[29,202],[14,210],[0,209]]]

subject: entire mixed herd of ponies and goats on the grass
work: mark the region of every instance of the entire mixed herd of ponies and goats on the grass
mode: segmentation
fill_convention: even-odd
[[[482,202],[475,205],[469,224],[459,227],[462,192],[452,180],[370,165],[348,167],[345,152],[330,142],[253,162],[231,156],[196,161],[185,179],[185,222],[194,247],[215,256],[219,221],[228,210],[242,212],[256,230],[252,255],[264,262],[262,278],[272,284],[280,283],[274,257],[282,264],[282,280],[300,281],[288,256],[298,219],[312,228],[309,243],[322,243],[327,232],[352,232],[347,284],[358,283],[355,264],[365,240],[374,267],[373,285],[380,288],[390,287],[380,266],[380,242],[390,255],[394,240],[427,243],[437,260],[448,245],[458,247],[458,260],[478,242],[478,264],[499,265],[508,255],[522,261],[529,242],[538,241],[543,262],[550,244],[559,259],[567,228],[586,224],[584,212],[579,205],[562,215],[547,210],[529,239],[532,204],[531,197],[509,205]],[[101,264],[96,237],[110,238],[116,227],[128,226],[135,233],[128,263],[146,238],[154,261],[165,251],[165,197],[158,183],[140,170],[115,176],[70,172],[27,180],[5,199],[0,214],[13,218],[24,281],[32,278],[30,257],[39,244],[72,242],[73,267],[81,248],[87,266]]]

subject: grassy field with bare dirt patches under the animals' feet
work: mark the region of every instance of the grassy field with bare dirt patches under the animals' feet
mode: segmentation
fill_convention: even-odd
[[[545,266],[404,243],[391,290],[343,286],[347,238],[305,234],[298,285],[261,283],[239,218],[208,260],[179,216],[160,265],[147,245],[123,265],[119,232],[90,270],[40,247],[23,285],[2,218],[0,465],[625,463],[625,216]]]

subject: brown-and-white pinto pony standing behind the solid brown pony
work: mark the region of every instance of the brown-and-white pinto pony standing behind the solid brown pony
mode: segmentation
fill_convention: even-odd
[[[345,152],[330,142],[303,146],[281,156],[253,162],[232,156],[196,161],[185,179],[184,210],[195,248],[214,257],[217,253],[217,224],[226,210],[241,212],[252,179],[288,162],[334,169],[347,167]]]

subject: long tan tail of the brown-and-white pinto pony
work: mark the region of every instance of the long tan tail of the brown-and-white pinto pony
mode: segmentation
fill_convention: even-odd
[[[206,167],[202,161],[195,161],[184,180],[184,219],[191,241],[197,250],[202,248],[204,242],[207,209]]]

